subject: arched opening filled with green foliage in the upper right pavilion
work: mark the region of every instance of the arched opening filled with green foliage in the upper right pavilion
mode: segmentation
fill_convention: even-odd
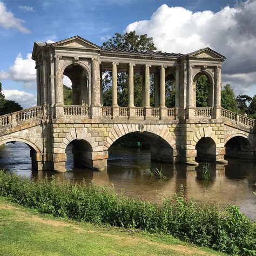
[[[213,90],[209,77],[204,73],[198,73],[193,82],[196,89],[196,107],[212,107]]]

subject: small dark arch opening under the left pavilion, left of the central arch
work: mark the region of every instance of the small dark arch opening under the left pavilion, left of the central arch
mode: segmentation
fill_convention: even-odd
[[[93,167],[92,147],[84,139],[72,140],[66,147],[66,169]]]

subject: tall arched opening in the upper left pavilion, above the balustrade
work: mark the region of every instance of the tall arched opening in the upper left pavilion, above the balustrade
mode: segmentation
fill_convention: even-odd
[[[69,65],[65,68],[63,75],[64,105],[89,105],[87,71],[82,66]]]

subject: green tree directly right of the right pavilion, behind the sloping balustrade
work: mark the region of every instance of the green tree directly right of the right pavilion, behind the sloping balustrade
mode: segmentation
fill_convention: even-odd
[[[224,86],[224,90],[221,91],[221,106],[224,109],[238,112],[237,100],[235,99],[235,94],[230,84]]]

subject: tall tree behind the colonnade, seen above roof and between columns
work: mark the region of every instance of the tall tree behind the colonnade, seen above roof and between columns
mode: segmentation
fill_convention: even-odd
[[[147,37],[147,35],[137,35],[136,31],[129,33],[115,33],[109,41],[106,41],[102,45],[103,48],[114,48],[133,51],[154,51],[153,38]],[[105,73],[105,79],[103,80],[103,105],[112,105],[112,87],[111,84],[111,71]],[[128,104],[128,74],[127,72],[117,73],[117,94],[118,105],[127,106]],[[152,102],[152,100],[151,100]],[[134,73],[134,105],[142,106],[142,76],[139,73]]]

